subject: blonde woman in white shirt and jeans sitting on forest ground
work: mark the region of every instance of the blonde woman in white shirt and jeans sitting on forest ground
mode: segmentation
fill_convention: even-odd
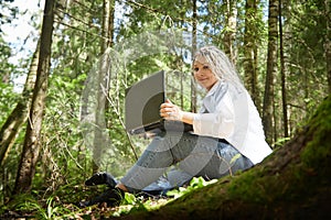
[[[196,82],[207,91],[201,111],[185,112],[167,100],[160,116],[192,124],[193,132],[160,133],[119,183],[106,173],[94,175],[86,185],[107,182],[110,189],[84,206],[115,205],[125,191],[148,190],[163,174],[170,187],[182,186],[194,176],[220,178],[245,170],[271,153],[257,109],[226,55],[205,46],[196,52],[192,66]]]

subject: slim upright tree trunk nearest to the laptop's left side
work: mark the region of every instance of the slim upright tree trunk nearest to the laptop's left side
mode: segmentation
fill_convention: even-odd
[[[114,9],[115,1],[114,0],[104,0],[104,18],[103,18],[103,38],[102,38],[102,47],[100,53],[104,54],[106,50],[113,43],[113,34],[114,34]],[[106,109],[106,100],[107,94],[109,89],[109,77],[108,73],[110,73],[111,64],[107,63],[108,59],[100,61],[99,69],[98,69],[98,84],[97,84],[97,109],[96,109],[96,129],[94,136],[94,148],[93,148],[93,173],[97,173],[99,170],[100,162],[102,162],[102,153],[105,147],[107,147],[108,141],[108,132],[106,130],[106,118],[105,118],[105,109]],[[108,146],[109,147],[109,146]]]

